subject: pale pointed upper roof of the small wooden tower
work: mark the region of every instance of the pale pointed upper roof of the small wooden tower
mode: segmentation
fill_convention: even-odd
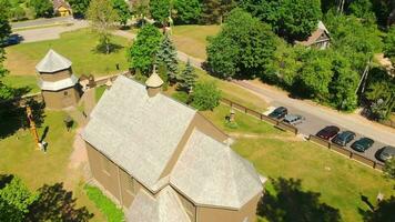
[[[52,73],[61,70],[69,69],[72,62],[58,52],[50,49],[45,57],[36,65],[38,72]]]

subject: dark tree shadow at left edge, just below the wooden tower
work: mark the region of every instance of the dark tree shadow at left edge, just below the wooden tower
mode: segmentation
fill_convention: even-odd
[[[36,100],[27,101],[33,114],[36,125],[39,128],[44,121],[44,103]],[[18,99],[0,102],[0,139],[16,133],[19,129],[29,128],[26,108],[19,104]]]

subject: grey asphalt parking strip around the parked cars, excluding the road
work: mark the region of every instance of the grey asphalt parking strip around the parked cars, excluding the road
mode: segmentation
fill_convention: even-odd
[[[275,103],[273,102],[272,103],[272,108],[265,113],[267,114],[270,111],[274,110],[276,107],[281,107],[282,104],[280,103]],[[287,108],[287,107],[286,107]],[[341,129],[341,132],[342,131],[345,131],[345,130],[350,130],[350,129],[345,129],[342,127],[342,124],[340,123],[336,123],[336,122],[330,122],[330,121],[326,121],[326,120],[323,120],[322,118],[318,118],[318,117],[315,117],[313,114],[310,114],[310,113],[306,113],[306,112],[303,112],[301,110],[298,110],[297,108],[287,108],[288,110],[288,113],[291,114],[301,114],[305,118],[305,121],[303,121],[302,123],[295,125],[297,129],[298,129],[298,132],[301,134],[304,134],[305,137],[308,137],[310,134],[316,134],[320,130],[322,130],[323,128],[327,127],[327,125],[336,125]],[[353,130],[351,130],[353,131]],[[355,139],[350,142],[347,144],[347,147],[345,149],[350,150],[350,151],[353,151],[353,152],[356,152],[354,151],[353,149],[350,148],[350,145],[355,142],[356,140],[358,140],[359,138],[363,138],[364,135],[356,132],[356,131],[353,131],[356,133],[356,137]],[[384,144],[379,141],[376,141],[375,138],[371,138],[373,139],[375,142],[374,144],[372,145],[372,148],[369,148],[368,150],[366,150],[364,153],[359,153],[359,152],[356,152],[369,160],[373,160],[373,161],[379,161],[375,158],[375,153],[382,149],[383,147],[385,145],[388,145],[388,144]]]

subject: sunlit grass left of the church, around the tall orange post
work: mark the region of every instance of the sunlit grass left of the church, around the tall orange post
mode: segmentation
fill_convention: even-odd
[[[75,129],[67,132],[64,117],[64,112],[45,112],[45,120],[39,129],[39,135],[41,137],[44,128],[48,127],[44,139],[48,142],[47,153],[36,150],[29,130],[20,130],[0,140],[0,174],[18,175],[31,190],[43,184],[63,182],[67,190],[73,191],[78,206],[87,206],[94,214],[92,221],[104,221],[102,213],[88,199],[83,190],[82,175],[68,168]]]

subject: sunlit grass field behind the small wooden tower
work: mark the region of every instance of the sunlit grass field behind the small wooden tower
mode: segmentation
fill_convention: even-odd
[[[115,64],[121,70],[128,69],[125,50],[130,44],[126,39],[113,37],[113,43],[118,50],[110,54],[97,51],[98,37],[90,30],[82,29],[65,32],[61,39],[31,42],[8,47],[4,65],[11,75],[34,75],[36,64],[45,56],[49,49],[55,50],[73,62],[73,71],[77,75],[94,74],[97,77],[117,73]]]

